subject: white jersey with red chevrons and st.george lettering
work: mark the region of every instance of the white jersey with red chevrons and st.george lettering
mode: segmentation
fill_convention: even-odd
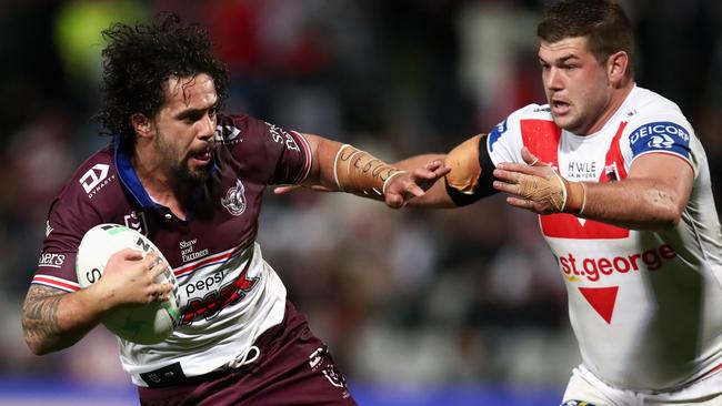
[[[565,281],[584,366],[595,376],[624,389],[670,390],[722,367],[720,221],[704,150],[680,109],[635,87],[603,129],[579,136],[554,124],[549,105],[532,104],[497,125],[485,152],[494,165],[522,163],[522,145],[572,181],[625,179],[650,153],[689,162],[692,193],[671,230],[571,214],[539,222]]]

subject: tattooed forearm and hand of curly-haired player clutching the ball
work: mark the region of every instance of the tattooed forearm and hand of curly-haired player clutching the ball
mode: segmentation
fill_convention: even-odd
[[[172,286],[153,282],[166,271],[134,250],[123,250],[108,261],[103,277],[73,293],[33,284],[22,306],[22,329],[30,351],[43,355],[76,344],[100,323],[102,315],[121,305],[166,300]]]

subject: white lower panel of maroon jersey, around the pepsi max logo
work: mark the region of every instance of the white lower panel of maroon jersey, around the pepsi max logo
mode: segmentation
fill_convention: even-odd
[[[244,250],[219,253],[202,262],[173,270],[181,307],[199,307],[209,292],[227,295],[225,307],[207,317],[180,322],[173,334],[152,346],[119,338],[120,361],[138,386],[139,374],[179,362],[187,376],[217,369],[247,351],[268,328],[283,321],[285,286],[263,260],[258,243]],[[190,324],[188,324],[190,322]]]

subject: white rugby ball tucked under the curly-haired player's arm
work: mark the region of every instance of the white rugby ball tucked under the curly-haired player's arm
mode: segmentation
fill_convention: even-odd
[[[108,258],[123,248],[143,253],[156,252],[168,264],[163,254],[143,234],[120,224],[99,224],[83,235],[78,247],[76,274],[81,287],[98,282],[103,274]],[[169,282],[173,290],[168,301],[147,305],[119,307],[108,312],[102,323],[117,336],[138,344],[156,344],[168,338],[180,316],[178,282],[170,265],[168,272],[156,282]]]

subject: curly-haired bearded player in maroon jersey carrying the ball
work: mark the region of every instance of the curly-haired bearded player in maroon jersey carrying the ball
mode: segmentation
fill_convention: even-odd
[[[219,113],[228,72],[204,29],[161,16],[103,31],[104,106],[113,142],[92,154],[50,206],[22,311],[36,354],[69,347],[119,306],[167,297],[166,265],[123,250],[81,290],[83,234],[120,223],[146,234],[179,282],[181,316],[153,345],[119,338],[142,405],[355,404],[327,346],[287,300],[255,243],[269,184],[322,185],[401,206],[448,171],[398,171],[351,145]],[[332,304],[329,304],[332,305]]]

